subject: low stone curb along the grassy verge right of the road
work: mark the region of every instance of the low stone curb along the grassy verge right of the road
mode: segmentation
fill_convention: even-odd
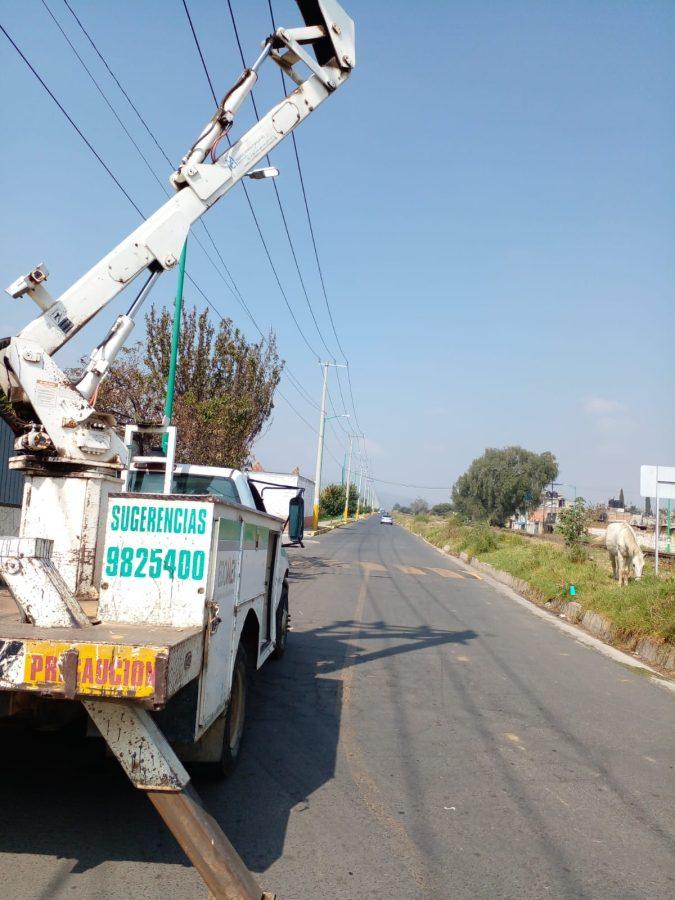
[[[405,525],[402,527],[406,528]],[[428,541],[421,534],[417,534],[417,532],[412,531],[410,528],[406,528],[406,531],[415,535],[415,537],[418,537],[420,540],[424,541],[425,544],[433,547],[434,550],[437,550],[444,556],[459,559],[470,568],[476,569],[478,572],[482,572],[499,584],[511,588],[521,600],[532,604],[540,610],[548,610],[561,619],[565,619],[575,630],[588,632],[594,638],[597,638],[610,647],[617,648],[620,652],[637,657],[645,664],[657,666],[666,674],[666,676],[675,674],[674,646],[659,643],[652,638],[639,636],[626,638],[626,636],[621,633],[620,629],[606,616],[603,616],[600,613],[591,612],[590,610],[584,610],[581,603],[578,603],[575,600],[547,600],[522,578],[516,578],[515,575],[504,572],[502,569],[497,569],[490,563],[481,562],[475,557],[469,557],[466,553],[453,553],[450,549],[446,550],[445,547],[437,547],[436,544],[432,544],[431,541]],[[654,674],[661,674],[661,677],[663,677],[662,673],[655,672]]]

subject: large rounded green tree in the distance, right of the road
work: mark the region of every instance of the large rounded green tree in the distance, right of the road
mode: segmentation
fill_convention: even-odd
[[[452,503],[466,519],[503,525],[516,510],[533,509],[546,484],[557,477],[558,463],[548,451],[488,448],[457,479]]]

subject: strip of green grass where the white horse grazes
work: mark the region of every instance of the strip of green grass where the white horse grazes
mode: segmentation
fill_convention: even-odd
[[[654,575],[647,560],[640,581],[620,588],[611,577],[609,557],[601,548],[589,547],[587,559],[574,561],[562,544],[523,537],[487,525],[462,525],[453,517],[400,516],[399,521],[438,547],[464,551],[526,581],[540,602],[578,600],[584,609],[607,616],[632,637],[656,637],[675,643],[675,573]],[[576,596],[570,597],[570,585]]]

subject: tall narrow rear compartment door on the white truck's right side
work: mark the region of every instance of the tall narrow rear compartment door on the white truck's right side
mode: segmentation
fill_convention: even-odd
[[[198,734],[225,708],[232,674],[234,614],[241,578],[244,523],[236,511],[220,507],[214,522],[204,666],[199,686]]]

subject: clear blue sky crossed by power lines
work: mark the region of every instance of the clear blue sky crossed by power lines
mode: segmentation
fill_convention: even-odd
[[[48,3],[165,178],[166,164],[62,0]],[[182,4],[72,5],[179,158],[212,113]],[[189,5],[221,95],[241,69],[227,4]],[[346,5],[356,20],[357,69],[297,139],[373,473],[449,486],[486,446],[519,443],[553,451],[561,480],[587,497],[623,487],[637,500],[641,463],[675,464],[675,4]],[[266,0],[233,6],[252,57],[270,29]],[[274,8],[278,24],[298,22],[291,0]],[[1,18],[136,202],[154,210],[160,188],[42,3],[5,2]],[[58,294],[138,216],[2,35],[0,71],[0,283],[45,260]],[[269,66],[259,108],[279,92]],[[240,127],[249,121],[247,111]],[[333,348],[288,142],[273,161]],[[289,299],[321,352],[271,183],[250,189]],[[257,320],[275,329],[282,356],[318,400],[318,365],[286,312],[241,191],[208,223]],[[188,268],[254,337],[194,242]],[[171,302],[174,276],[160,285],[155,299]],[[189,288],[187,299],[202,302]],[[27,302],[0,303],[3,334],[33,315]],[[62,363],[91,349],[126,303],[95,320]],[[315,426],[318,411],[287,378],[282,390]],[[333,396],[339,407],[335,384]],[[269,468],[300,465],[311,475],[315,435],[279,399],[255,451]],[[341,459],[332,431],[329,451]],[[339,476],[330,455],[325,474]],[[447,498],[380,488],[387,503],[416,494]]]

